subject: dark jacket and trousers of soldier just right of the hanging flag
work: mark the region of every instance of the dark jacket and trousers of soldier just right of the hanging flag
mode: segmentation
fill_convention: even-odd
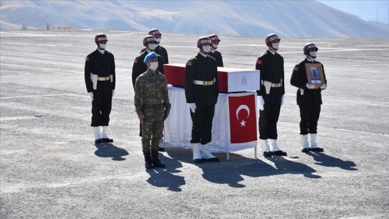
[[[266,140],[277,139],[277,122],[281,111],[281,98],[285,94],[283,57],[278,53],[274,55],[267,50],[256,61],[256,70],[260,70],[260,90],[258,96],[265,101],[263,111],[259,111],[259,138]],[[272,88],[267,94],[263,81],[270,81]]]

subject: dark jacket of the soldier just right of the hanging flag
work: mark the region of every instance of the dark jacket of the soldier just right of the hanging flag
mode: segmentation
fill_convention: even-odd
[[[283,71],[283,57],[277,52],[273,55],[269,50],[258,57],[256,60],[256,70],[260,70],[260,90],[257,90],[258,96],[267,96],[263,81],[272,83],[281,83],[281,88],[270,88],[269,95],[284,95],[285,94],[285,75]]]

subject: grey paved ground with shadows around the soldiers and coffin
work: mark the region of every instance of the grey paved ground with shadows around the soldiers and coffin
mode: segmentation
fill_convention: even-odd
[[[302,154],[296,88],[286,83],[279,145],[191,162],[167,145],[167,168],[144,169],[131,67],[145,33],[106,31],[117,88],[109,133],[95,146],[85,56],[96,31],[1,31],[0,218],[389,218],[389,40],[282,38],[285,78],[315,42],[329,87],[317,140]],[[163,33],[170,63],[197,52],[199,35]],[[226,67],[254,69],[264,38],[220,36]],[[42,115],[36,117],[35,115]]]

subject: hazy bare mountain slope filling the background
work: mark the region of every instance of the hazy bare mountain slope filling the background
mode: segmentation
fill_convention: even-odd
[[[1,30],[111,29],[299,38],[388,38],[389,26],[317,1],[1,1]]]

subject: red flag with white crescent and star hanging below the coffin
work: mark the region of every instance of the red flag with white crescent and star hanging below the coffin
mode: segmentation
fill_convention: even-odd
[[[256,140],[256,95],[229,96],[231,143]]]

